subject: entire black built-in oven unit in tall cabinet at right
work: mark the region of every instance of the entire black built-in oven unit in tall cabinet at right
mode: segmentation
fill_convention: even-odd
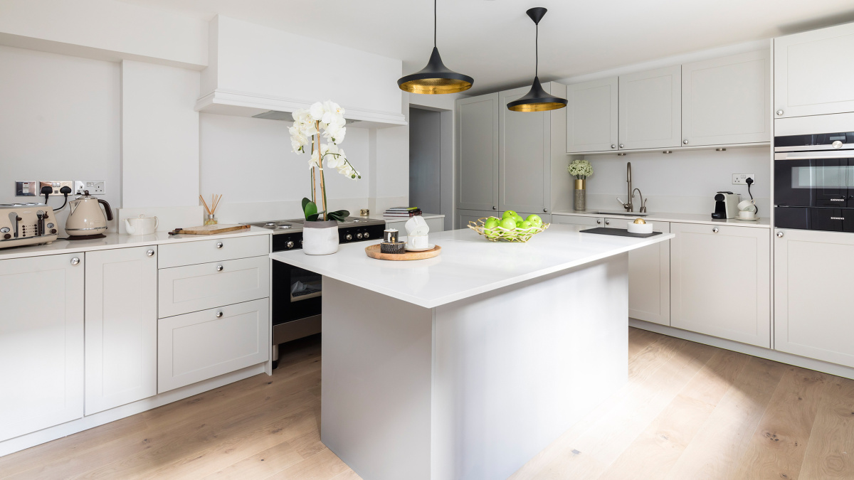
[[[778,228],[854,232],[854,132],[774,139]]]

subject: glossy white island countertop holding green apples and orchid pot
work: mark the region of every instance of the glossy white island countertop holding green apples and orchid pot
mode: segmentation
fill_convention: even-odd
[[[488,242],[470,229],[430,233],[442,254],[427,260],[376,260],[365,248],[376,242],[342,244],[333,255],[302,250],[275,252],[273,260],[320,273],[420,307],[432,308],[507,285],[582,266],[675,237],[647,238],[580,233],[551,225],[528,243]]]

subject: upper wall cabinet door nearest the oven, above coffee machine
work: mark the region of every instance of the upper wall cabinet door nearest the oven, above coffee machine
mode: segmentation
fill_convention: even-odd
[[[770,52],[682,65],[682,144],[769,142]]]

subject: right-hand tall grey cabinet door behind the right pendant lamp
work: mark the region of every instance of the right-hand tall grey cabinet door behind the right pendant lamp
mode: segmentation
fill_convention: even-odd
[[[550,91],[551,85],[542,85]],[[551,112],[513,112],[506,105],[530,87],[499,94],[498,209],[547,213],[551,203]]]

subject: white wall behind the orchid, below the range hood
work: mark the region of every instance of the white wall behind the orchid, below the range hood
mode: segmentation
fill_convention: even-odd
[[[209,198],[224,194],[219,216],[226,222],[289,219],[301,216],[300,202],[311,196],[308,155],[291,152],[291,123],[231,115],[201,116],[201,190]],[[368,207],[368,129],[347,127],[341,143],[362,179],[326,169],[332,210],[358,214]],[[319,190],[318,190],[319,191]]]

